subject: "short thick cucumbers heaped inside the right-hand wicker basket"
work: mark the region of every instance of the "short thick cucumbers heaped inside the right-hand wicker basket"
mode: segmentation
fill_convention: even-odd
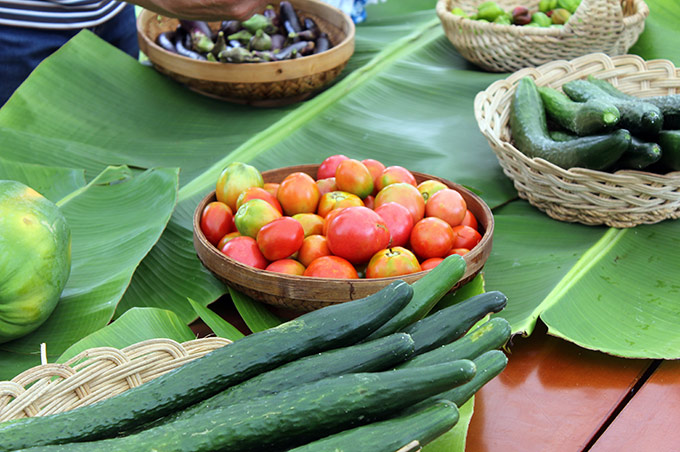
[[[510,128],[522,153],[564,169],[680,170],[680,95],[638,98],[592,75],[558,91],[524,77]]]

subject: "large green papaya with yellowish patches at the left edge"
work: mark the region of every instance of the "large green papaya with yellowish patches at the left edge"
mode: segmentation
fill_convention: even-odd
[[[0,180],[0,343],[38,328],[71,273],[71,228],[32,188]]]

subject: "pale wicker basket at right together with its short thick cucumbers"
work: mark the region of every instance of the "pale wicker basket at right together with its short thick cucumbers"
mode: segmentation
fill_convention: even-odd
[[[680,218],[680,70],[591,54],[515,72],[475,117],[520,197],[561,221],[627,228]]]

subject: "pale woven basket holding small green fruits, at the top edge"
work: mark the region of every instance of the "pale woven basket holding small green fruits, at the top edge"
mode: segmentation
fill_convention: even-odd
[[[649,15],[642,0],[582,0],[563,28],[499,25],[451,13],[455,7],[474,14],[484,0],[438,0],[437,15],[453,46],[468,61],[493,72],[513,72],[589,53],[622,55],[637,41]],[[497,0],[511,11],[517,0]],[[539,0],[521,2],[530,11]]]

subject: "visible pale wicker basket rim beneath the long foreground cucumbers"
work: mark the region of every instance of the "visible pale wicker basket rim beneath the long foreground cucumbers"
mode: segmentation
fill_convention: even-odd
[[[33,367],[0,382],[0,422],[92,404],[230,343],[218,337],[181,344],[172,339],[151,339],[122,350],[91,348],[63,364]]]

